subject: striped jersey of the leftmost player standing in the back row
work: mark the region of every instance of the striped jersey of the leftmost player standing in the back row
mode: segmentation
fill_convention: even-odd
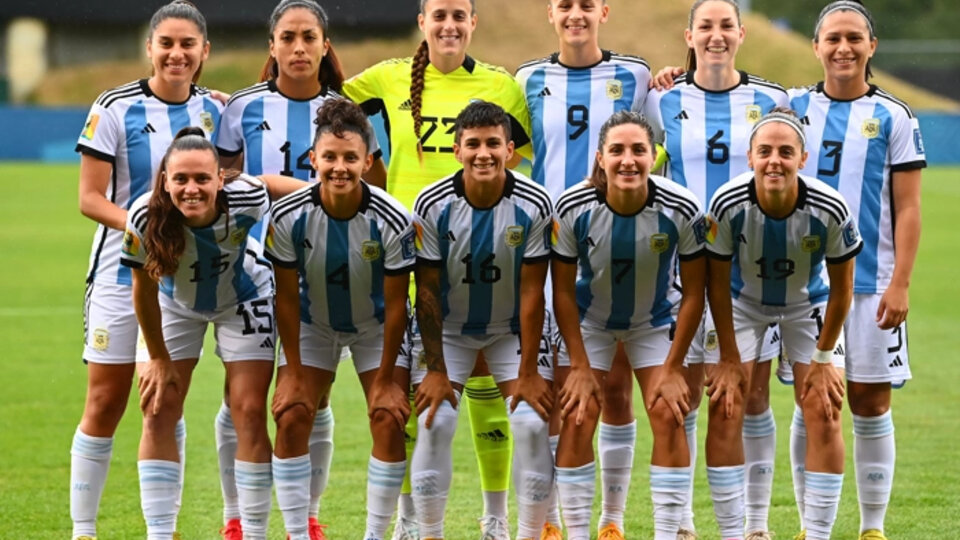
[[[197,126],[216,142],[223,106],[210,93],[191,86],[183,103],[169,103],[153,94],[147,80],[133,81],[100,94],[77,139],[76,151],[109,162],[113,175],[106,198],[129,210],[137,197],[152,189],[163,154],[181,129]],[[97,225],[87,281],[130,285],[130,269],[120,264],[123,231]]]

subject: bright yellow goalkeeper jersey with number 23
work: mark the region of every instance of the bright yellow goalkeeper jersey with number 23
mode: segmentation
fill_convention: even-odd
[[[531,157],[530,114],[520,85],[503,68],[467,56],[460,67],[447,74],[427,65],[421,107],[421,164],[410,112],[412,62],[412,57],[385,60],[343,85],[343,93],[368,115],[383,113],[390,138],[387,191],[408,209],[413,208],[423,188],[461,168],[453,156],[454,122],[471,101],[489,101],[503,107],[510,115],[516,150]]]

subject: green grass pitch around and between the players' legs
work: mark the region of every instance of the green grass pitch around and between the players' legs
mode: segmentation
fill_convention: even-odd
[[[0,538],[66,539],[70,535],[70,441],[86,385],[81,353],[83,278],[93,225],[77,211],[77,167],[0,164]],[[895,393],[898,460],[887,517],[891,539],[950,538],[960,534],[960,280],[953,212],[960,208],[960,169],[924,175],[924,230],[912,284],[910,355],[914,379]],[[950,345],[954,343],[954,345]],[[208,351],[212,348],[208,347]],[[223,370],[207,354],[186,404],[188,458],[180,530],[186,539],[218,538],[220,488],[213,418]],[[942,382],[942,384],[941,384]],[[778,454],[771,526],[781,540],[797,532],[787,452],[790,391],[773,384]],[[133,394],[136,394],[135,388]],[[344,364],[334,387],[336,450],[321,522],[330,538],[357,538],[365,521],[365,476],[370,448],[366,408],[353,367]],[[637,409],[642,416],[642,409]],[[705,434],[701,415],[701,448]],[[847,475],[835,538],[856,538],[859,515],[852,476],[851,422],[847,413]],[[652,536],[647,482],[650,435],[640,419],[627,513],[633,538]],[[99,519],[101,540],[142,538],[136,449],[140,414],[131,400],[117,433]],[[447,509],[450,539],[476,538],[481,511],[479,481],[461,419],[455,474]],[[702,456],[702,452],[701,452]],[[703,458],[697,467],[695,512],[701,538],[717,538]],[[594,512],[596,515],[598,512]],[[515,507],[511,507],[515,516]],[[270,538],[284,538],[274,507]]]

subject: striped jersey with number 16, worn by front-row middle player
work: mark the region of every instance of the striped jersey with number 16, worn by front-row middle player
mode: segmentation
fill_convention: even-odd
[[[520,269],[547,261],[553,209],[546,190],[507,170],[491,208],[467,201],[463,171],[427,186],[414,203],[418,264],[440,268],[443,331],[520,331]]]

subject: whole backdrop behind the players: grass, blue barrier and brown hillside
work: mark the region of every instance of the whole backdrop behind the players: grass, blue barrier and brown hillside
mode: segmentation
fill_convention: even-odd
[[[194,0],[207,16],[213,47],[201,84],[232,92],[253,84],[266,58],[273,0]],[[348,75],[388,57],[409,56],[420,40],[417,0],[320,0]],[[646,58],[654,70],[682,64],[691,0],[608,0],[611,20],[601,45]],[[823,2],[752,0],[744,4],[747,37],[738,66],[784,86],[811,84],[822,70],[810,34]],[[911,289],[914,376],[897,393],[900,458],[888,531],[891,538],[960,537],[960,282],[953,212],[960,207],[960,4],[958,0],[867,0],[878,21],[875,82],[920,117],[931,169],[924,175],[924,233]],[[477,0],[472,56],[513,71],[554,51],[546,0]],[[105,89],[149,75],[146,21],[159,0],[0,1],[0,539],[69,535],[70,438],[82,409],[83,276],[94,229],[76,206],[73,148],[90,103]],[[208,348],[212,352],[212,348]],[[207,353],[188,398],[188,475],[180,529],[215,538],[220,526],[212,422],[222,369]],[[369,450],[362,395],[349,364],[334,390],[336,451],[322,521],[331,538],[362,529]],[[949,381],[943,384],[940,381]],[[796,532],[786,453],[789,392],[774,390],[780,426],[772,528]],[[639,405],[639,404],[638,404]],[[642,406],[637,413],[642,416]],[[701,415],[701,420],[705,415]],[[845,419],[849,431],[849,415]],[[136,401],[117,434],[100,518],[100,538],[143,537],[136,478],[140,418]],[[641,421],[641,424],[644,422]],[[701,437],[705,422],[701,422]],[[476,537],[480,499],[469,430],[458,430],[448,538]],[[639,430],[628,526],[651,534],[648,430]],[[849,436],[849,433],[847,433]],[[849,442],[849,441],[848,441]],[[848,446],[848,456],[852,445]],[[848,459],[849,463],[849,459]],[[701,538],[716,538],[702,459],[695,501]],[[848,465],[848,471],[852,468]],[[511,511],[512,515],[515,515]],[[271,538],[283,538],[279,513]],[[856,492],[848,474],[837,538],[855,538]]]

